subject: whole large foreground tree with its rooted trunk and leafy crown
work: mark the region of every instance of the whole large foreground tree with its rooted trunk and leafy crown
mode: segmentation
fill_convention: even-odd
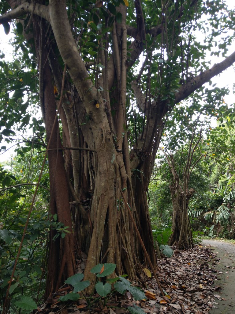
[[[156,266],[146,191],[165,118],[192,93],[222,102],[219,90],[202,86],[235,61],[235,52],[227,56],[232,37],[225,35],[216,52],[222,62],[210,67],[204,58],[217,36],[234,27],[233,13],[222,1],[207,0],[8,0],[1,10],[6,33],[16,23],[15,46],[24,63],[23,70],[17,62],[11,69],[0,64],[2,138],[13,134],[14,122],[28,123],[28,103],[21,100],[25,92],[36,93],[50,214],[69,231],[55,239],[51,229],[46,295],[75,273],[81,251],[87,253],[85,279],[93,283],[90,269],[97,263],[115,263],[118,275],[138,278],[140,261]],[[204,44],[195,30],[204,32]]]

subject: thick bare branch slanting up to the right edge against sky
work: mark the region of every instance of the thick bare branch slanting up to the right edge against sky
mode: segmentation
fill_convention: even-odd
[[[208,82],[212,77],[218,75],[235,62],[235,51],[220,63],[216,63],[212,68],[202,72],[197,77],[192,78],[188,83],[183,85],[179,92],[175,94],[175,104],[188,97],[192,92]]]

